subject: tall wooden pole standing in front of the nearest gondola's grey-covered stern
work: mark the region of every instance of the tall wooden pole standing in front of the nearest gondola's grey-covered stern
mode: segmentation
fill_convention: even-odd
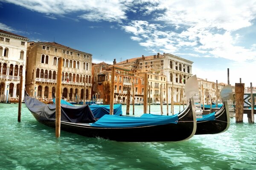
[[[61,77],[62,77],[62,58],[58,62],[57,85],[56,85],[56,118],[55,118],[55,136],[61,136]]]

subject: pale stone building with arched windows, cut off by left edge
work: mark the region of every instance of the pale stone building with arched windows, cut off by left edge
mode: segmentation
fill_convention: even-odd
[[[17,100],[20,90],[24,97],[20,76],[24,85],[27,42],[26,37],[0,30],[0,102]]]

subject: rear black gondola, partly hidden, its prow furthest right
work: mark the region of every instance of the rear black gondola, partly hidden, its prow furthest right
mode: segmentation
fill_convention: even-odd
[[[221,90],[221,108],[209,115],[203,115],[202,119],[197,119],[197,129],[195,135],[222,133],[229,128],[230,115],[227,100],[233,99],[231,85],[225,86]]]

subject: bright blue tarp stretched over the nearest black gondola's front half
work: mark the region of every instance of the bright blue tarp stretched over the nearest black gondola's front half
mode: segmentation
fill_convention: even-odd
[[[151,125],[177,124],[178,116],[132,117],[104,115],[97,122],[91,123],[94,127],[139,127]]]

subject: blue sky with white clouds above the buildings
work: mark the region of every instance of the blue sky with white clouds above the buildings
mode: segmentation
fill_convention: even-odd
[[[0,29],[93,62],[170,53],[208,81],[256,86],[256,0],[0,0]]]

